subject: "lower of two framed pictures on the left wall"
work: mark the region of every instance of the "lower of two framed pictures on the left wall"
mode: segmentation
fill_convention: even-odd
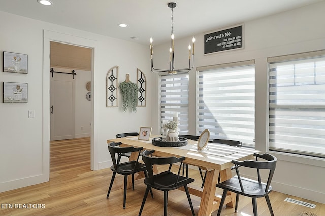
[[[27,103],[28,84],[18,82],[4,82],[3,94],[4,103]]]

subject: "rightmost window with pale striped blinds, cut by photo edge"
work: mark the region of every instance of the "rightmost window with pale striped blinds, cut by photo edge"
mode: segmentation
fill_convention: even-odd
[[[269,149],[325,157],[325,51],[269,62]]]

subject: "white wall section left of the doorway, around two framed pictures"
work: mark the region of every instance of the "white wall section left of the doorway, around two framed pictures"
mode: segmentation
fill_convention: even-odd
[[[42,158],[43,24],[26,23],[28,20],[3,12],[0,19],[3,20],[0,28],[12,31],[11,34],[0,32],[1,54],[9,51],[28,55],[28,74],[0,72],[1,82],[28,83],[28,103],[0,103],[0,191],[5,191],[46,181],[48,175],[43,173]],[[35,110],[35,118],[28,118],[28,110]]]

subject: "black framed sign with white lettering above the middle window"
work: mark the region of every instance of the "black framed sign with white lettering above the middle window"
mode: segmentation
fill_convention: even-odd
[[[243,25],[204,35],[204,54],[243,48]]]

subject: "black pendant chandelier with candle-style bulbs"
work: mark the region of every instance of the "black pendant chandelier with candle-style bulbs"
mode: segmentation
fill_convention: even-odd
[[[172,32],[171,32],[171,47],[169,49],[170,56],[169,56],[169,69],[156,69],[153,66],[153,48],[152,48],[152,37],[150,38],[150,60],[151,60],[151,72],[168,72],[168,74],[176,74],[177,72],[185,72],[188,73],[191,69],[193,69],[194,66],[194,42],[195,37],[193,37],[193,48],[191,52],[191,45],[188,45],[188,68],[182,68],[182,69],[175,69],[175,59],[174,59],[174,34],[173,34],[173,8],[176,7],[176,3],[170,2],[168,3],[168,7],[172,9]],[[192,64],[191,64],[191,55],[192,55]]]

